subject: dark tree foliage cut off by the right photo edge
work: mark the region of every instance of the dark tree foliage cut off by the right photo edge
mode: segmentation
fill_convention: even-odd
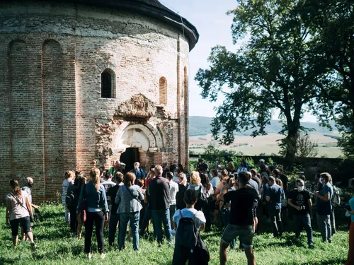
[[[315,113],[327,126],[335,117],[343,133],[339,146],[354,158],[354,1],[305,0],[301,8],[314,36],[316,63],[327,73],[318,84],[320,107],[314,109],[322,111]]]

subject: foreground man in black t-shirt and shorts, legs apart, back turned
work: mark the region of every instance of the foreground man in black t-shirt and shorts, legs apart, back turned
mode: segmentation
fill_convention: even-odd
[[[247,188],[249,178],[246,172],[239,173],[237,182],[239,189],[221,195],[220,204],[223,204],[224,201],[231,201],[231,211],[229,224],[220,240],[220,265],[226,264],[227,247],[238,236],[244,246],[247,263],[249,265],[256,264],[256,259],[253,255],[253,204],[258,194],[255,189]]]

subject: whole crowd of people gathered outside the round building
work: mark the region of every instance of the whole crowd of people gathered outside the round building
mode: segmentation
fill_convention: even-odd
[[[248,264],[256,264],[253,255],[253,237],[263,223],[258,216],[267,216],[276,238],[282,238],[289,210],[295,221],[295,237],[302,228],[307,232],[307,244],[314,247],[312,234],[312,199],[316,204],[316,220],[323,242],[332,241],[333,185],[329,173],[317,176],[314,190],[308,190],[305,177],[299,174],[295,189],[281,167],[266,165],[260,160],[251,168],[245,159],[238,168],[229,162],[227,167],[218,164],[210,169],[200,160],[195,171],[185,172],[173,160],[151,167],[145,172],[139,163],[125,172],[125,164],[117,161],[112,167],[93,167],[86,179],[80,171],[65,172],[62,183],[64,220],[74,235],[81,238],[84,225],[84,251],[91,259],[91,237],[96,228],[98,252],[105,257],[103,231],[108,228],[108,244],[126,249],[127,227],[133,249],[139,250],[139,238],[149,235],[152,223],[153,237],[159,245],[166,240],[174,245],[172,264],[208,264],[209,253],[200,231],[212,230],[212,223],[223,225],[224,233],[219,245],[219,262],[226,264],[227,248],[239,247],[246,254]],[[89,180],[89,181],[88,181]],[[33,179],[27,178],[22,188],[16,180],[10,182],[12,192],[6,196],[6,223],[11,225],[13,245],[18,242],[21,225],[23,240],[30,241],[35,249],[31,232],[32,204],[30,188]],[[354,189],[354,179],[350,180]],[[351,218],[349,251],[346,265],[354,264],[354,197],[346,207]],[[262,228],[263,229],[263,228]],[[118,235],[117,235],[118,230]],[[174,237],[174,238],[173,238]]]

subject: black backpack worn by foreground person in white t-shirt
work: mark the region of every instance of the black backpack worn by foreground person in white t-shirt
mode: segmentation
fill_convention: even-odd
[[[198,211],[194,214],[193,218],[197,213]],[[190,217],[183,217],[181,210],[179,210],[179,215],[181,219],[179,220],[176,232],[176,245],[195,249],[198,243],[198,229],[195,226],[194,220]]]

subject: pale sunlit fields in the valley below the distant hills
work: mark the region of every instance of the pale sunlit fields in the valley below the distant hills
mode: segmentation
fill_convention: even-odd
[[[337,140],[329,136],[340,136],[339,134],[309,134],[312,141],[318,143],[319,154],[318,156],[326,156],[328,158],[338,158],[343,155],[340,148],[337,147]],[[268,134],[265,136],[235,136],[235,141],[229,146],[219,146],[215,140],[212,139],[211,134],[205,136],[190,136],[189,148],[190,151],[195,153],[202,153],[204,148],[212,142],[216,144],[219,149],[230,151],[242,152],[245,155],[259,155],[265,153],[270,155],[272,153],[278,154],[280,148],[277,140],[282,139],[284,136],[280,134]]]

